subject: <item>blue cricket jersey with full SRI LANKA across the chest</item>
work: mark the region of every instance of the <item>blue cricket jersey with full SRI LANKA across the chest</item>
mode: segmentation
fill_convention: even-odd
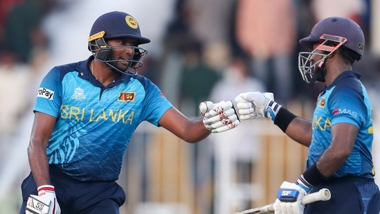
[[[134,130],[159,126],[172,104],[141,75],[119,75],[103,87],[89,62],[55,66],[39,87],[34,111],[57,118],[48,142],[51,165],[79,181],[116,180]]]

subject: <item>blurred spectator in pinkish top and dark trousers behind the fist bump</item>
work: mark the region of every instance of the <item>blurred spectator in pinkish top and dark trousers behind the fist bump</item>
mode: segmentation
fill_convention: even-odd
[[[289,101],[296,47],[293,1],[240,0],[235,21],[237,43],[251,56],[255,76],[276,94],[276,100]]]

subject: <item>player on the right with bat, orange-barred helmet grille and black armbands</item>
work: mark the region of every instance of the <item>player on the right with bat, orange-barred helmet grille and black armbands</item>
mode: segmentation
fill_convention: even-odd
[[[344,17],[319,21],[300,44],[313,51],[298,56],[303,80],[325,82],[312,121],[295,116],[273,100],[273,94],[241,93],[235,98],[241,119],[271,118],[291,139],[309,148],[307,169],[295,183],[284,181],[280,191],[293,199],[275,200],[275,213],[379,214],[380,193],[372,163],[372,106],[368,93],[352,71],[364,51],[360,26]],[[307,193],[328,188],[331,199],[301,204]]]

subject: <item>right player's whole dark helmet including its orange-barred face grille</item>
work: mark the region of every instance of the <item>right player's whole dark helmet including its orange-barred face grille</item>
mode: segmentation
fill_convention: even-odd
[[[305,82],[324,82],[325,60],[337,48],[343,46],[350,58],[360,60],[364,51],[364,34],[359,24],[345,17],[328,17],[319,21],[308,37],[300,39],[300,44],[313,49],[312,52],[300,52],[298,55],[298,69]],[[319,50],[319,53],[317,52]],[[323,53],[320,53],[323,51]],[[322,56],[318,62],[310,60],[312,55]]]

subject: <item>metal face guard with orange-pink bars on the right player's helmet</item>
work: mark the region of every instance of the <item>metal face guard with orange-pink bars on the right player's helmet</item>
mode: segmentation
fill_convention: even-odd
[[[322,69],[324,69],[325,59],[334,53],[336,49],[347,42],[345,37],[339,37],[334,35],[324,34],[320,37],[321,44],[318,44],[314,51],[300,52],[298,54],[298,69],[302,75],[302,79],[307,84],[314,84],[314,82],[321,82],[318,75],[321,75]],[[318,51],[318,53],[317,53]],[[322,52],[321,52],[322,51]],[[311,57],[314,55],[319,56],[320,60],[312,61]],[[314,57],[315,58],[315,57]]]

